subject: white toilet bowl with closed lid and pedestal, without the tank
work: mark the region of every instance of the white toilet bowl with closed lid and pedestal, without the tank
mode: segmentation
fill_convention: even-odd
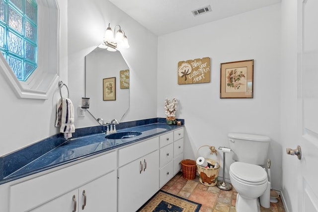
[[[267,173],[259,165],[234,162],[230,166],[230,180],[238,192],[237,212],[260,212],[258,197],[267,188]]]

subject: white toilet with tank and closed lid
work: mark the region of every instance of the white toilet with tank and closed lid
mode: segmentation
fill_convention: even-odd
[[[242,133],[229,133],[230,148],[236,161],[230,166],[230,180],[238,192],[237,212],[260,212],[258,198],[268,186],[266,164],[270,138]]]

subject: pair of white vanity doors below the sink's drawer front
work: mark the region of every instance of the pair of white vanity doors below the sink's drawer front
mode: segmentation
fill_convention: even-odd
[[[159,190],[159,150],[118,169],[118,211],[135,212]]]

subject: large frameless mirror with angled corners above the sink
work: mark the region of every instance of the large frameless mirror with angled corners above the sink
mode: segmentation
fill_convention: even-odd
[[[96,48],[85,57],[85,97],[89,113],[119,122],[129,108],[129,67],[119,51]]]

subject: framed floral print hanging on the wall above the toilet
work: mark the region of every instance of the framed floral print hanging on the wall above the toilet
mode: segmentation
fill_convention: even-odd
[[[253,98],[254,60],[222,63],[220,98]]]

